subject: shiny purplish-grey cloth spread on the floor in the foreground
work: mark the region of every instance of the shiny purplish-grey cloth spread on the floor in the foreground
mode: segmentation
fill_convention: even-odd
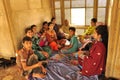
[[[80,68],[66,63],[66,58],[60,61],[49,60],[46,77],[44,79],[31,78],[31,80],[98,80],[97,75],[87,77],[78,71]]]

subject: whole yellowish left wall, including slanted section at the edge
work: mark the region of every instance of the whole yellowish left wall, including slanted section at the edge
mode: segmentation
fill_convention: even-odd
[[[0,0],[0,55],[15,56],[24,29],[51,19],[50,0]]]

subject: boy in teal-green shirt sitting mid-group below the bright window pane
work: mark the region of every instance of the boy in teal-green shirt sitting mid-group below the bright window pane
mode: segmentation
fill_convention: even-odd
[[[75,36],[75,28],[74,27],[69,28],[69,35],[71,37],[70,45],[67,45],[64,48],[62,48],[61,53],[70,54],[70,53],[74,53],[78,50],[78,39]]]

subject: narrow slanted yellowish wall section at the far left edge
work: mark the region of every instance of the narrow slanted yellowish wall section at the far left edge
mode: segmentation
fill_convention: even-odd
[[[13,42],[3,1],[0,0],[0,56],[13,56]]]

